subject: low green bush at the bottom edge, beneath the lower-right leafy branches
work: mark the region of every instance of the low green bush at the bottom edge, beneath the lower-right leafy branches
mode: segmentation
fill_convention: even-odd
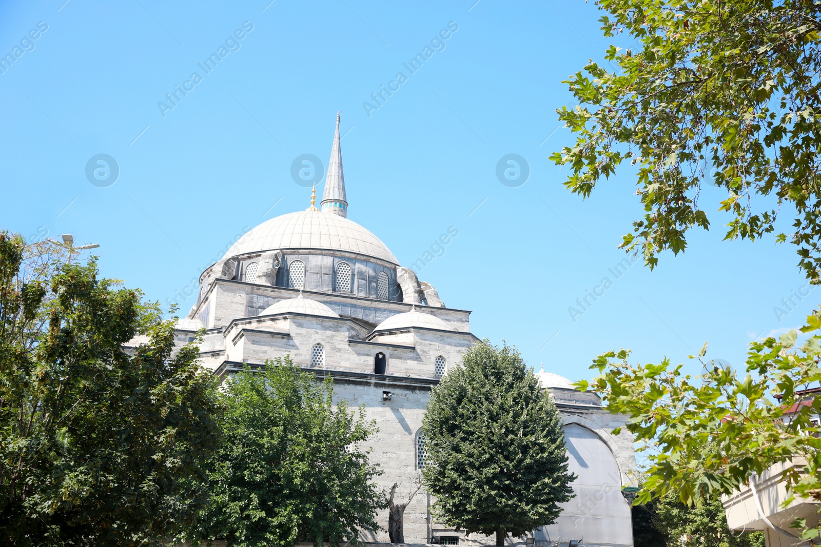
[[[764,547],[764,533],[746,531],[733,534],[720,499],[699,507],[682,504],[676,495],[666,495],[655,504],[654,527],[662,532],[669,547]],[[640,544],[635,547],[663,547]]]

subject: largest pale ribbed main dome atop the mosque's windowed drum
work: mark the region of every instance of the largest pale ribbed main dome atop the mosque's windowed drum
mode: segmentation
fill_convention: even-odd
[[[363,226],[318,210],[291,212],[256,226],[232,245],[224,258],[288,248],[348,251],[399,265],[388,247]]]

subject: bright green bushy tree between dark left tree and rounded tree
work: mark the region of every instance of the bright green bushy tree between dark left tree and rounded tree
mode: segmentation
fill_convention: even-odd
[[[187,539],[237,547],[355,544],[388,505],[381,475],[360,449],[377,431],[365,407],[333,403],[333,381],[291,359],[245,369],[224,384],[224,440],[209,463],[208,507]]]

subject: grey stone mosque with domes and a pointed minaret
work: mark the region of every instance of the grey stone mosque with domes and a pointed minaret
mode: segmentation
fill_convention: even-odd
[[[315,196],[315,193],[314,193]],[[333,377],[334,396],[365,405],[379,427],[372,457],[387,491],[407,496],[425,464],[422,415],[431,388],[479,339],[470,312],[447,308],[438,291],[402,267],[388,247],[347,217],[339,116],[322,201],[265,221],[203,271],[200,293],[177,323],[182,343],[204,327],[200,357],[218,376],[246,364],[290,355],[303,370]],[[625,498],[635,481],[633,439],[624,417],[601,408],[596,394],[542,370],[545,389],[565,419],[576,497],[558,521],[534,532],[535,545],[633,545]],[[424,544],[494,545],[433,522],[430,495],[420,491],[404,514],[405,540]],[[379,516],[387,530],[388,510]],[[385,531],[362,539],[388,541]],[[512,541],[512,540],[511,540]]]

